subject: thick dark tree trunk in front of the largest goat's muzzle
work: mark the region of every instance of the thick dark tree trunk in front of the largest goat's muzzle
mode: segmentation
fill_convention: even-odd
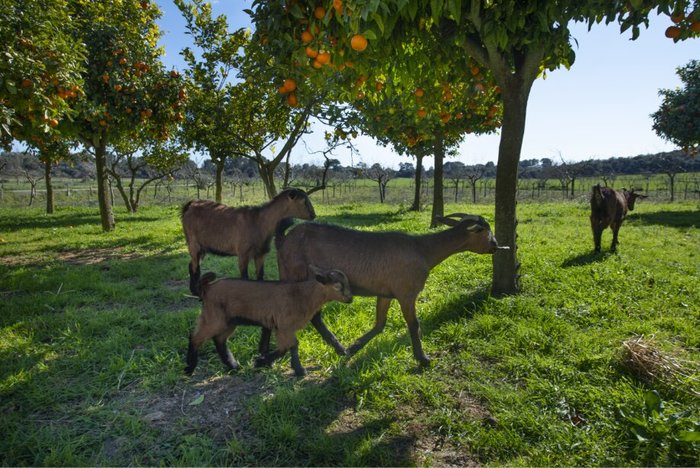
[[[520,291],[520,262],[517,257],[518,224],[516,193],[518,163],[525,133],[527,100],[532,82],[524,84],[510,77],[503,89],[503,126],[498,147],[496,170],[496,238],[499,245],[510,250],[499,250],[493,255],[494,296],[515,294]]]

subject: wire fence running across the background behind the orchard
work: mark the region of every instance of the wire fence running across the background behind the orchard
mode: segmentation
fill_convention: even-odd
[[[551,202],[558,200],[587,201],[595,184],[614,188],[641,191],[657,201],[700,200],[700,173],[677,174],[673,180],[666,174],[620,176],[616,178],[587,177],[563,183],[554,179],[521,179],[518,182],[519,202]],[[137,186],[139,185],[137,181]],[[303,185],[301,188],[304,188]],[[672,193],[673,189],[673,193]],[[118,206],[122,197],[111,186],[113,203]],[[447,203],[492,204],[495,201],[495,179],[469,181],[446,179],[443,198]],[[94,180],[57,179],[53,184],[56,206],[96,206],[97,184]],[[384,203],[411,205],[415,193],[412,179],[392,179],[386,187]],[[140,206],[179,205],[194,198],[214,198],[214,187],[197,187],[183,180],[160,181],[149,185],[140,197]],[[258,204],[266,200],[260,181],[224,181],[222,198],[229,205]],[[379,184],[367,179],[333,181],[325,190],[312,195],[314,203],[340,205],[347,203],[379,203]],[[421,204],[429,205],[433,199],[433,183],[424,180],[421,187]],[[40,206],[46,202],[43,181],[31,187],[21,179],[0,181],[0,207]]]

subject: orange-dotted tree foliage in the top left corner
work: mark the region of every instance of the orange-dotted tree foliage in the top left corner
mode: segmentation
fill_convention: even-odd
[[[79,92],[84,47],[68,0],[0,0],[0,144],[41,144]]]

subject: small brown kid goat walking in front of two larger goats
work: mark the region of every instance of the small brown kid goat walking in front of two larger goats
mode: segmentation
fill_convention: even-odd
[[[323,270],[313,265],[310,279],[301,282],[245,281],[221,279],[206,273],[200,280],[202,314],[190,335],[185,372],[197,366],[197,349],[212,338],[223,363],[237,369],[238,362],[226,341],[238,325],[257,325],[275,330],[277,350],[259,356],[256,365],[270,365],[291,350],[291,364],[296,375],[306,374],[299,361],[295,332],[304,328],[326,302],[351,302],[352,294],[345,274]],[[261,353],[267,350],[261,350]]]

